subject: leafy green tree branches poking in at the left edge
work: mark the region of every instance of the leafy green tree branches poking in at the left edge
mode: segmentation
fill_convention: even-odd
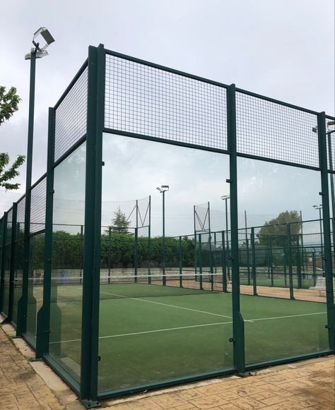
[[[0,125],[11,118],[18,111],[20,97],[16,94],[16,88],[11,87],[8,92],[0,85]],[[7,152],[0,153],[0,187],[13,190],[20,187],[19,183],[10,183],[11,179],[18,176],[18,168],[25,162],[25,155],[18,155],[16,160],[8,167],[9,155]],[[8,167],[8,169],[6,169]]]

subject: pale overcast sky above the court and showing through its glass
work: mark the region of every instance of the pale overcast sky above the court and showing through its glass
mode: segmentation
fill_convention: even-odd
[[[0,151],[8,152],[12,159],[26,152],[29,62],[24,55],[30,51],[33,32],[41,25],[49,29],[56,42],[49,47],[49,56],[37,61],[33,182],[46,169],[47,109],[54,106],[86,59],[90,44],[102,43],[117,52],[334,115],[333,0],[3,1],[0,84],[15,86],[22,98],[19,111],[0,127]],[[193,160],[190,155],[190,163]],[[217,167],[228,169],[227,164]],[[173,175],[167,169],[166,174],[160,171],[157,181],[153,164],[141,171],[142,176],[150,174],[150,179],[143,179],[155,189],[161,183],[177,181],[180,170]],[[277,165],[240,159],[241,215],[244,209],[255,215],[276,215],[289,207],[303,210],[308,218],[315,215],[310,208],[319,201],[319,177],[310,171],[287,171]],[[187,206],[192,207],[198,199],[200,203],[215,203],[218,191],[228,193],[227,177],[221,177],[216,199],[208,190],[208,195],[196,195]],[[163,181],[165,178],[170,181]],[[18,181],[22,183],[18,192],[0,191],[1,213],[23,194],[25,167]],[[293,195],[289,181],[307,188]],[[205,185],[208,187],[208,183]],[[213,185],[217,187],[215,181]],[[132,195],[129,191],[127,194]],[[172,188],[169,194],[173,195]],[[146,195],[153,195],[148,186],[142,190],[137,186],[131,198]],[[167,213],[171,217],[176,212],[189,213],[188,208],[175,210],[170,200]],[[175,204],[177,201],[176,197]],[[213,205],[222,206],[222,201]]]

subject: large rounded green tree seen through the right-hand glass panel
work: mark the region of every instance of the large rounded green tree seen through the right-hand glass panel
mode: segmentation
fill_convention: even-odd
[[[271,237],[271,245],[284,246],[287,237],[287,224],[290,224],[290,233],[295,241],[295,237],[300,234],[301,219],[300,212],[294,210],[281,212],[276,218],[265,222],[257,234],[259,244],[268,246]]]

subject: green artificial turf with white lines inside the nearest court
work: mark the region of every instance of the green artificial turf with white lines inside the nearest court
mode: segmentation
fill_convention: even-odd
[[[79,380],[81,287],[61,288],[50,354]],[[100,291],[100,392],[233,369],[231,294],[148,284]],[[245,295],[240,303],[247,364],[329,348],[324,303]]]

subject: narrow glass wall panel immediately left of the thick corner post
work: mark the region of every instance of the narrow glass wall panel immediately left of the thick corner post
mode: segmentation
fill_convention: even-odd
[[[80,380],[86,143],[54,169],[49,355]]]

